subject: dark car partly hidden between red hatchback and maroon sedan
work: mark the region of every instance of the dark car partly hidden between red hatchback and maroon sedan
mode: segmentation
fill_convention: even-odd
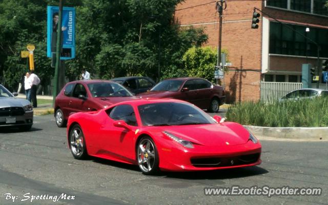
[[[111,79],[129,89],[134,94],[143,93],[154,87],[155,82],[150,77],[118,77]]]

